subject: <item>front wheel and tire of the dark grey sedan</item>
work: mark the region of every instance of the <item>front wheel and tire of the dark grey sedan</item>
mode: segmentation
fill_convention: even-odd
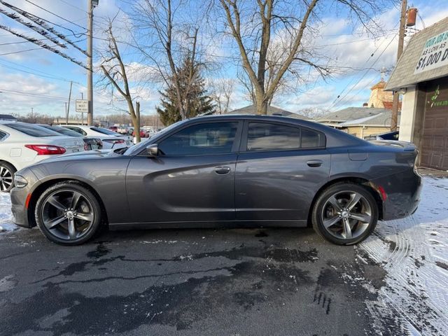
[[[74,196],[71,200],[69,199],[71,193],[73,193],[73,195],[80,195],[78,198],[80,205],[78,208],[76,206],[73,207],[73,211],[69,211],[70,215],[67,217],[67,214],[69,213],[66,211],[70,210],[70,203],[74,199]],[[65,198],[64,195],[66,195]],[[56,197],[57,203],[59,203],[59,205],[64,205],[64,207],[67,208],[65,209],[65,212],[62,208],[54,207],[52,205],[52,200],[55,200]],[[83,209],[87,209],[89,212],[85,212]],[[64,219],[62,223],[55,225],[55,228],[50,229],[45,226],[45,223],[49,225],[51,222],[51,219],[49,219],[50,213],[55,216],[54,219],[62,218],[63,216],[67,219]],[[50,241],[60,245],[72,246],[84,244],[89,239],[92,239],[92,237],[94,237],[102,228],[102,208],[99,205],[97,197],[92,191],[76,181],[59,182],[45,190],[37,200],[34,215],[38,228],[43,235],[50,239]],[[84,221],[80,218],[81,216],[91,216],[92,220]],[[71,234],[69,233],[69,217],[73,218],[71,223],[73,223],[75,237],[71,237]],[[76,228],[78,228],[80,232],[76,232]],[[76,237],[78,234],[79,237]],[[66,235],[66,237],[64,235]]]

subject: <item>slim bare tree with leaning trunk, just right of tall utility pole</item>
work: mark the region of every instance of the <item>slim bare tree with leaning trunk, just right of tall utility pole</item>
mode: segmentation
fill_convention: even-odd
[[[120,54],[120,48],[116,37],[113,34],[112,27],[113,20],[109,21],[109,27],[106,29],[108,36],[108,43],[106,51],[102,55],[102,62],[100,68],[104,76],[100,81],[106,82],[106,87],[111,87],[112,92],[116,90],[127,103],[128,113],[131,116],[132,124],[134,125],[135,138],[137,142],[140,142],[140,103],[135,102],[132,99],[132,93],[130,90],[130,80],[127,73],[128,66],[123,61],[123,57]]]

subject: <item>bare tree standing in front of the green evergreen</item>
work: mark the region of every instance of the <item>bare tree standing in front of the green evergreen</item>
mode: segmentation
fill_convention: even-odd
[[[188,118],[195,73],[204,69],[200,60],[200,24],[185,18],[188,1],[142,0],[134,3],[134,45],[153,64],[158,80],[165,86],[174,87],[176,104],[182,119]],[[153,36],[153,37],[152,37]],[[181,76],[179,69],[189,59],[188,76]]]

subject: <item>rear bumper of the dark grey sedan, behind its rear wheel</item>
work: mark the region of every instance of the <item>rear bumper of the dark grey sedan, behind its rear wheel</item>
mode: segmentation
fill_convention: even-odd
[[[423,181],[412,169],[372,181],[386,191],[383,202],[383,221],[404,218],[414,214],[420,202]]]

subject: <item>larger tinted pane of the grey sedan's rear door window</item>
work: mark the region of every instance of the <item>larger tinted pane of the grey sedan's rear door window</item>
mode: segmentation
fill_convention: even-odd
[[[249,123],[248,151],[273,151],[300,148],[300,128],[269,123]]]

